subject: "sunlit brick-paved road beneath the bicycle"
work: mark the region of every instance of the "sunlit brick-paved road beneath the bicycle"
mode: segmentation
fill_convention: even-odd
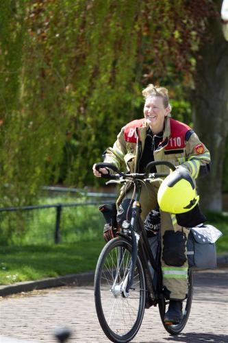
[[[228,342],[227,270],[197,272],[190,318],[176,338],[162,327],[158,309],[145,311],[132,342]],[[35,342],[55,342],[55,327],[69,327],[68,342],[110,342],[99,327],[92,285],[36,291],[0,299],[0,335]],[[0,342],[3,342],[0,338]]]

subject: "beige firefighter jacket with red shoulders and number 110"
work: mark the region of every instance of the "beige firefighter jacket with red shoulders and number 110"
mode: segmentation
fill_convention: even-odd
[[[117,136],[113,147],[108,147],[104,162],[118,169],[127,167],[129,172],[138,172],[149,126],[144,119],[131,121]],[[154,161],[169,161],[182,165],[195,180],[210,171],[210,152],[197,134],[186,124],[165,117],[163,139],[153,153]],[[157,165],[158,173],[167,172],[167,167]],[[112,172],[112,171],[110,171]]]

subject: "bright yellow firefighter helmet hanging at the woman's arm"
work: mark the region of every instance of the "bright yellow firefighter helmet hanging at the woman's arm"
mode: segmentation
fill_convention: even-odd
[[[199,202],[194,182],[184,167],[168,175],[157,192],[160,209],[170,213],[185,213]]]

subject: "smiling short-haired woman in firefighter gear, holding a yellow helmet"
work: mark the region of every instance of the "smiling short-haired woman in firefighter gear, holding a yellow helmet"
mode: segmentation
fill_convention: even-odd
[[[105,151],[104,162],[112,163],[118,169],[125,165],[129,172],[144,172],[151,161],[170,161],[177,166],[168,176],[170,182],[164,182],[161,189],[160,182],[143,185],[140,196],[144,220],[151,210],[157,208],[160,189],[162,274],[164,294],[170,299],[164,320],[166,324],[177,324],[183,316],[182,301],[187,289],[188,228],[204,219],[197,204],[199,196],[195,180],[210,171],[210,152],[189,126],[170,118],[166,88],[149,84],[142,95],[145,99],[144,118],[131,121],[122,128],[113,147]],[[92,169],[97,177],[112,173],[105,168],[97,171],[95,165]],[[157,166],[153,171],[167,172],[167,167]],[[129,204],[133,196],[134,189],[123,187],[116,202],[118,211],[123,213],[125,204]]]

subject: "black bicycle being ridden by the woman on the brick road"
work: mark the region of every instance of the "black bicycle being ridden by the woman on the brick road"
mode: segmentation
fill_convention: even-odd
[[[112,169],[116,174],[105,178],[110,182],[126,184],[132,182],[136,187],[131,220],[125,220],[121,232],[104,246],[97,261],[94,276],[94,300],[97,316],[103,332],[112,342],[127,343],[138,333],[144,309],[159,307],[162,324],[168,333],[177,335],[188,321],[193,294],[193,272],[188,270],[188,289],[183,300],[183,319],[179,324],[166,325],[164,314],[169,301],[162,292],[161,235],[158,237],[157,254],[151,252],[146,230],[140,218],[140,190],[142,182],[162,181],[166,173],[150,173],[151,167],[166,165],[172,170],[175,166],[168,161],[155,161],[147,165],[144,174],[127,174],[110,163],[97,163]],[[118,180],[118,181],[117,181]],[[151,273],[151,268],[152,273]]]

